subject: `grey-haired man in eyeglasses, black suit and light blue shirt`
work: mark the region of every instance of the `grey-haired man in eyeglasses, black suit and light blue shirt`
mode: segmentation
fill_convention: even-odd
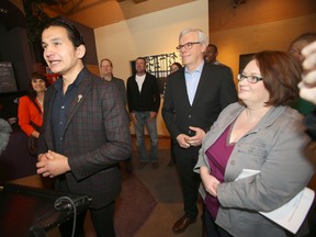
[[[184,202],[184,215],[172,227],[176,234],[196,221],[200,178],[193,168],[202,139],[221,111],[237,101],[232,70],[204,63],[206,45],[203,31],[183,30],[177,49],[185,67],[179,74],[169,75],[166,86],[162,116],[177,140],[174,155]]]

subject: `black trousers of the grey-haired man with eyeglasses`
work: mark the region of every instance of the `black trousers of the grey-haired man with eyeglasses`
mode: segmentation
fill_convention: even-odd
[[[193,168],[199,158],[200,147],[184,149],[174,145],[173,148],[181,182],[184,213],[188,217],[194,219],[199,213],[196,202],[201,179],[198,173],[193,172]]]

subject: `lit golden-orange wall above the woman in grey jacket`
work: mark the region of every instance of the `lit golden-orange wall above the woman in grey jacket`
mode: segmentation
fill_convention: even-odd
[[[282,21],[210,33],[210,43],[217,45],[217,59],[232,67],[235,80],[238,74],[239,55],[256,52],[287,50],[290,43],[306,32],[316,32],[316,13]]]

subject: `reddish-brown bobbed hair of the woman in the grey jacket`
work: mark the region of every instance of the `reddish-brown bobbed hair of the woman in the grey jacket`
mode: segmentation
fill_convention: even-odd
[[[285,52],[264,50],[253,56],[270,99],[267,105],[290,105],[298,98],[301,65]]]

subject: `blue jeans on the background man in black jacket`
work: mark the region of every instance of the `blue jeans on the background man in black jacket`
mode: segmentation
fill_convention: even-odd
[[[149,111],[145,112],[135,112],[135,117],[137,120],[135,126],[136,133],[136,145],[138,148],[138,153],[140,156],[140,162],[157,162],[158,161],[158,135],[157,135],[157,126],[156,126],[156,117],[150,122],[149,120]],[[149,137],[150,137],[150,153],[149,159],[146,153],[145,147],[145,126],[147,127]]]

